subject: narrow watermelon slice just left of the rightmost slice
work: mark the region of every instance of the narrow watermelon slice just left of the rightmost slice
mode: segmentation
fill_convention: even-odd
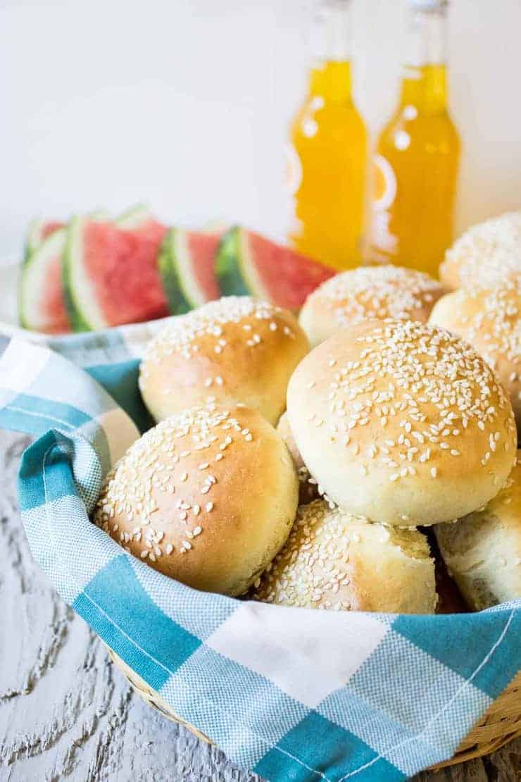
[[[172,228],[159,253],[159,271],[170,312],[180,315],[219,299],[215,274],[219,233]]]

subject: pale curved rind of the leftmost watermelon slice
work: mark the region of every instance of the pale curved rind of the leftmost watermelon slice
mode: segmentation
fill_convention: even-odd
[[[38,221],[41,224],[42,221]],[[35,229],[36,230],[36,229]],[[41,237],[41,231],[38,231]],[[66,229],[59,228],[43,242],[39,242],[23,261],[20,287],[18,289],[18,317],[23,328],[40,331],[42,321],[39,318],[37,300],[45,287],[48,264],[63,252],[66,242]],[[36,294],[36,296],[34,295]]]

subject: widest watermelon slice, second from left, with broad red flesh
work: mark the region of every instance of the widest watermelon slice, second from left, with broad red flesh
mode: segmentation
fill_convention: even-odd
[[[74,331],[169,314],[157,267],[166,228],[149,213],[127,218],[123,228],[85,217],[70,222],[62,271]]]

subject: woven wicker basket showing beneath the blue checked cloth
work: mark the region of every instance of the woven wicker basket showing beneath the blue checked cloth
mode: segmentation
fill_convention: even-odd
[[[141,698],[151,705],[152,708],[155,708],[156,711],[168,719],[172,719],[173,722],[184,725],[198,738],[202,738],[204,741],[212,744],[208,736],[205,736],[200,730],[185,723],[184,719],[177,716],[166,701],[163,701],[161,695],[152,690],[141,679],[141,676],[137,676],[137,673],[134,673],[110,648],[109,655],[112,661],[127,676],[137,694],[141,695]],[[494,752],[494,750],[499,749],[503,744],[507,744],[518,736],[521,736],[521,672],[512,680],[509,687],[506,687],[499,698],[496,698],[484,717],[473,726],[473,729],[459,745],[454,757],[439,763],[437,766],[433,766],[433,768],[441,769],[444,766],[453,766],[455,763],[462,763],[473,758],[480,758],[482,755],[489,755],[490,752]]]

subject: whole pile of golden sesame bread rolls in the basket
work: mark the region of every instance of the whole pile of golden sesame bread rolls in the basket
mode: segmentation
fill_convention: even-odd
[[[95,523],[200,590],[401,613],[436,610],[430,528],[470,608],[521,597],[519,259],[506,215],[441,282],[364,267],[298,320],[248,296],[170,319],[139,376],[157,425]]]

